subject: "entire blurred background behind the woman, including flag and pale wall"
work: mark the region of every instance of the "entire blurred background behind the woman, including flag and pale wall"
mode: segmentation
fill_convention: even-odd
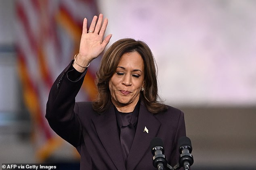
[[[83,18],[103,13],[109,45],[131,37],[151,48],[160,96],[185,112],[193,169],[256,170],[255,9],[254,0],[0,0],[0,164],[79,169],[44,115],[53,81],[78,52]],[[99,62],[77,101],[95,97]]]

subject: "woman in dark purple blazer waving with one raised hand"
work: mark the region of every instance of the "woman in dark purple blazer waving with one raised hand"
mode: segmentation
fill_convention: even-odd
[[[107,19],[84,19],[80,49],[53,84],[46,119],[77,148],[80,169],[154,170],[150,141],[160,137],[168,163],[178,163],[177,141],[185,136],[184,114],[157,102],[153,55],[142,41],[121,39],[106,51],[97,72],[98,98],[75,102],[90,62],[109,43]]]

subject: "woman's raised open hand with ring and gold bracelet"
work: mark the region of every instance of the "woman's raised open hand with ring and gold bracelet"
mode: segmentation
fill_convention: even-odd
[[[88,31],[87,19],[84,18],[79,54],[76,57],[77,62],[73,63],[73,67],[79,72],[84,72],[85,70],[85,68],[81,66],[88,66],[93,59],[97,58],[102,53],[112,36],[109,34],[103,39],[108,20],[107,18],[103,20],[103,14],[99,14],[98,21],[97,18],[97,16],[93,17]]]

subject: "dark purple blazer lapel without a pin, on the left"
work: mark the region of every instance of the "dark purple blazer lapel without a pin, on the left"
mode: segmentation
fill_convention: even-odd
[[[107,154],[118,170],[125,169],[123,152],[120,145],[118,126],[116,123],[115,110],[113,106],[103,115],[92,119],[99,139],[103,144]]]

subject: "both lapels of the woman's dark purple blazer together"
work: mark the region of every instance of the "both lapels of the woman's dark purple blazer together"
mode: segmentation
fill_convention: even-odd
[[[150,141],[157,135],[161,125],[161,123],[147,111],[143,102],[141,102],[136,133],[127,158],[127,167],[125,167],[114,106],[111,104],[105,113],[95,117],[92,121],[105,150],[115,164],[115,167],[120,170],[133,170],[143,158],[145,152],[150,152]]]

